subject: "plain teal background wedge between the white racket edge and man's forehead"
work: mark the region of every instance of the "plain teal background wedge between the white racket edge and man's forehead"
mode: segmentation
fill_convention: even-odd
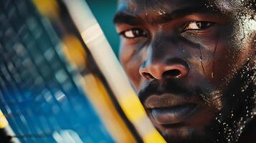
[[[86,0],[90,9],[93,11],[96,19],[102,27],[105,36],[107,36],[110,45],[118,55],[119,36],[115,31],[113,16],[115,15],[117,0]]]

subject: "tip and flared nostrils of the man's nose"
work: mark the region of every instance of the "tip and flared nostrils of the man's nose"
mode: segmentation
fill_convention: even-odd
[[[189,65],[186,61],[174,60],[174,62],[144,62],[139,69],[144,79],[181,79],[189,74]]]

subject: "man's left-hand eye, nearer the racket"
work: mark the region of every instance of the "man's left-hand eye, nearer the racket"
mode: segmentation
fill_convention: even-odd
[[[126,31],[121,31],[120,35],[122,35],[123,37],[125,37],[127,39],[136,39],[136,38],[148,36],[146,31],[143,29],[129,29]]]

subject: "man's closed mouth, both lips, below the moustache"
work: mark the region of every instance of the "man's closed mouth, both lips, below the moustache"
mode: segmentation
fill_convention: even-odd
[[[193,99],[172,94],[152,95],[146,99],[145,106],[151,119],[161,125],[184,122],[199,107]]]

